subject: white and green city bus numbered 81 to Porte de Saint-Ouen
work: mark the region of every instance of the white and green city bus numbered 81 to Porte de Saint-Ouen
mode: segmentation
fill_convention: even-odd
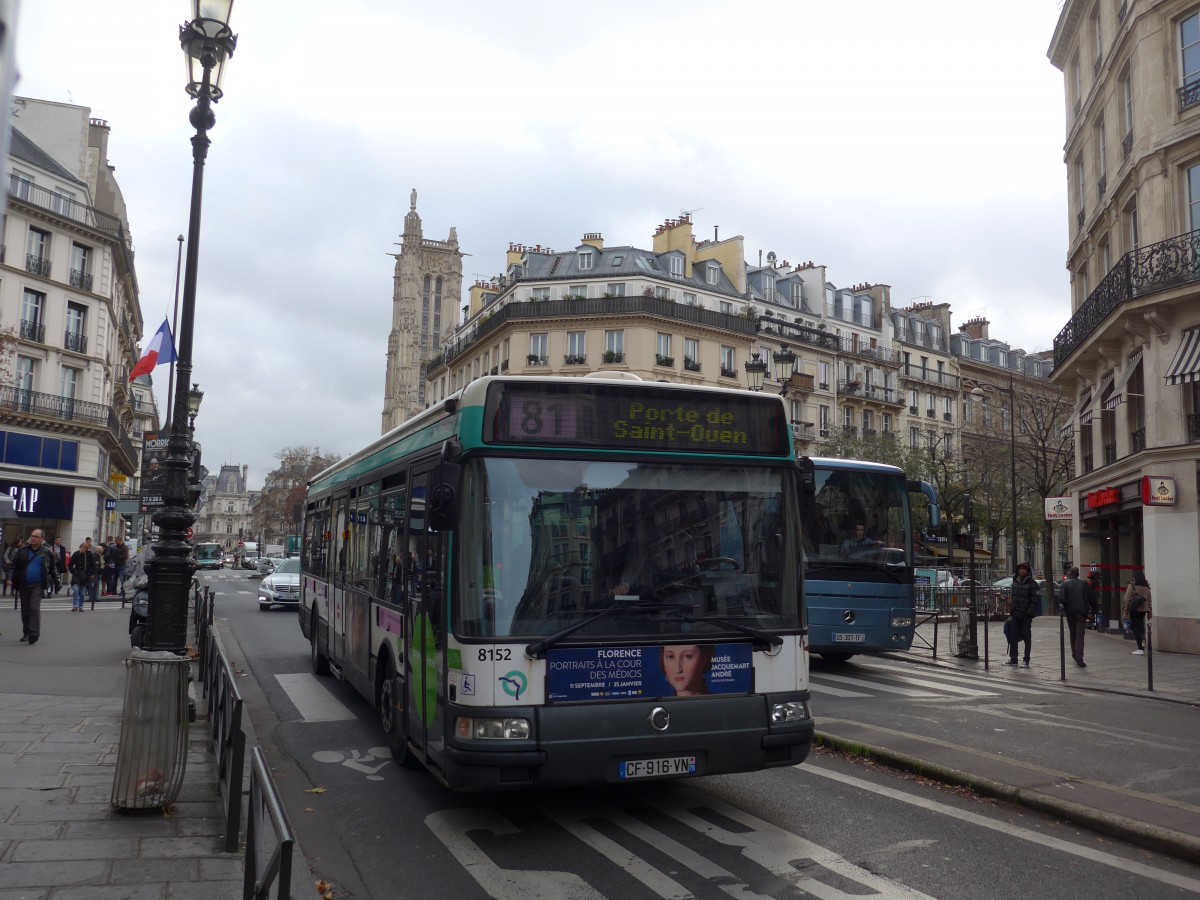
[[[478,379],[308,485],[313,671],[455,790],[797,764],[804,472],[779,397]]]

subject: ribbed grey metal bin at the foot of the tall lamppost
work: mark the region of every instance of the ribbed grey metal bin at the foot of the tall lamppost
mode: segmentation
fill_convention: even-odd
[[[125,670],[112,804],[122,811],[162,809],[184,786],[188,660],[168,650],[133,650]]]

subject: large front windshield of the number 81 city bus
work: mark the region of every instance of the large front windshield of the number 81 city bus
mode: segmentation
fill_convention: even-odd
[[[487,457],[466,467],[463,497],[463,637],[589,618],[572,641],[800,628],[788,469]]]

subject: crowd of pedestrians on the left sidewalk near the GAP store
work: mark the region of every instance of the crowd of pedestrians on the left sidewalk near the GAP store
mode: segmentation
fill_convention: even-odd
[[[29,540],[14,540],[4,552],[4,593],[11,589],[20,606],[20,640],[35,644],[42,636],[42,600],[58,594],[71,580],[71,612],[83,612],[84,600],[125,593],[130,550],[121,538],[94,546],[91,538],[67,553],[61,539],[46,544],[46,533],[35,528]]]

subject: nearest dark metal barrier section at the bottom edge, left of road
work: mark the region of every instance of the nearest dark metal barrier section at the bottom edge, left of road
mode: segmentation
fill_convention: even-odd
[[[268,830],[268,826],[270,829]],[[292,896],[292,850],[295,835],[288,821],[278,792],[266,768],[262,748],[251,750],[250,810],[246,816],[246,877],[242,883],[242,900],[262,900],[270,896],[272,883],[277,886],[275,896],[289,900]]]

